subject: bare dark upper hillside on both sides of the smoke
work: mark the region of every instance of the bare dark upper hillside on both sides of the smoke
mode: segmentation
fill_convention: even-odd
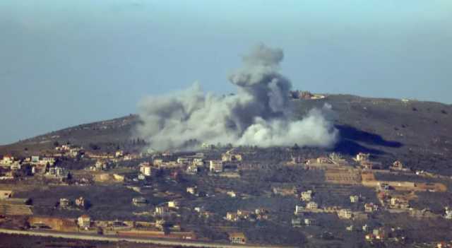
[[[382,160],[400,159],[412,168],[452,175],[452,106],[439,102],[328,95],[320,100],[293,100],[297,117],[328,102],[340,141],[334,150],[354,155],[368,152]],[[137,149],[132,137],[137,115],[82,124],[18,143],[0,146],[0,154],[31,155],[51,150],[54,142],[71,142],[112,151]]]

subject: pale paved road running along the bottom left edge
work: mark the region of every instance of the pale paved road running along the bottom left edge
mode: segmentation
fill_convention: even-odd
[[[117,236],[105,236],[105,235],[86,235],[80,233],[71,232],[53,232],[53,231],[37,231],[37,230],[9,230],[0,228],[0,233],[6,233],[11,235],[31,235],[40,237],[62,237],[65,239],[73,240],[95,240],[95,241],[110,241],[110,242],[136,242],[147,244],[160,244],[160,245],[180,245],[182,247],[212,247],[212,248],[290,248],[280,246],[263,246],[252,244],[220,244],[213,242],[201,242],[201,241],[182,241],[182,240],[165,240],[157,238],[144,238],[144,237],[117,237]]]

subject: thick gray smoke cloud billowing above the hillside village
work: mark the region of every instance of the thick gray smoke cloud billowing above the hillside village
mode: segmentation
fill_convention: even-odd
[[[337,131],[324,110],[292,119],[291,83],[279,73],[283,57],[281,49],[254,47],[243,57],[242,69],[229,76],[237,85],[235,95],[205,94],[195,83],[179,93],[145,98],[138,136],[156,150],[184,148],[189,141],[261,147],[333,145]]]

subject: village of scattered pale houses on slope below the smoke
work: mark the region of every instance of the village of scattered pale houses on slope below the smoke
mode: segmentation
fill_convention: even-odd
[[[416,240],[408,225],[391,221],[451,227],[452,206],[418,203],[449,194],[451,178],[369,153],[283,153],[289,159],[262,162],[254,148],[99,153],[68,143],[27,158],[3,155],[0,228],[232,244],[359,237],[367,245],[452,245],[448,236]],[[273,236],[262,239],[262,230]]]

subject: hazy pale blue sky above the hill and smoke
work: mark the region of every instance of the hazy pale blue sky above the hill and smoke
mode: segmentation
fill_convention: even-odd
[[[451,27],[450,0],[1,0],[0,144],[195,81],[232,93],[261,42],[295,89],[451,104]]]

